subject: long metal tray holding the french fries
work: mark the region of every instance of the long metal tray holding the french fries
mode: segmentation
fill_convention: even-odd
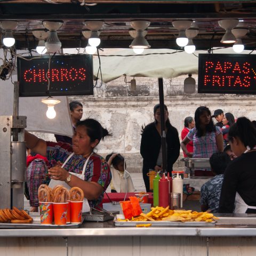
[[[117,221],[117,219],[124,219],[123,214],[117,214],[114,223],[116,227],[136,227],[137,224],[149,224],[152,226],[161,226],[161,227],[210,227],[214,226],[216,221],[205,222],[205,221]]]

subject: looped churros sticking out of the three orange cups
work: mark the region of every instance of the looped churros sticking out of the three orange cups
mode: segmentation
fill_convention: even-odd
[[[83,201],[84,192],[81,188],[73,187],[70,190],[57,185],[53,189],[47,185],[41,185],[38,188],[39,202],[67,203],[70,201]]]

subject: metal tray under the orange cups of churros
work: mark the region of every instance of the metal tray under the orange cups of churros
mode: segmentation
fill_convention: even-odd
[[[82,218],[81,223],[70,223],[67,225],[55,225],[55,224],[46,224],[42,225],[40,222],[40,216],[31,216],[33,218],[33,222],[30,223],[2,223],[0,222],[0,229],[1,228],[20,228],[20,229],[34,229],[34,228],[42,228],[42,229],[49,229],[49,228],[79,228],[83,221],[84,218]]]

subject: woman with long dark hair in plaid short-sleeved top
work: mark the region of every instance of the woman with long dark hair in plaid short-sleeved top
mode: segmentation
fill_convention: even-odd
[[[189,141],[193,141],[193,153],[187,150],[186,146]],[[201,106],[196,109],[195,127],[182,140],[181,148],[187,156],[194,158],[210,158],[213,153],[223,151],[223,136],[220,127],[213,124],[209,108]],[[196,175],[212,175],[211,172],[195,173]]]

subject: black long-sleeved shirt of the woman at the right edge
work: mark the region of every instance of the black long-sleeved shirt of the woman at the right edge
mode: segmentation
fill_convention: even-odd
[[[256,206],[256,151],[234,159],[224,173],[219,212],[232,213],[236,192],[247,205]]]

